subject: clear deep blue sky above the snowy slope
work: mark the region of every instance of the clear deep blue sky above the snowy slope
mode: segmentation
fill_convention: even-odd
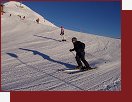
[[[56,26],[107,36],[121,37],[120,2],[23,2]]]

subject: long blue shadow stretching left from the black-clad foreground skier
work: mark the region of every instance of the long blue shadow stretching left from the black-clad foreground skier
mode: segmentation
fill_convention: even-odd
[[[41,52],[39,52],[39,51],[36,51],[36,50],[30,50],[30,49],[24,49],[24,48],[19,48],[19,49],[25,50],[25,51],[30,51],[30,52],[32,52],[34,55],[39,55],[39,56],[41,56],[43,59],[46,59],[46,60],[49,60],[49,61],[51,61],[51,62],[64,65],[64,66],[66,66],[66,68],[69,68],[69,69],[70,69],[70,68],[75,68],[75,67],[76,67],[75,65],[72,65],[72,64],[64,63],[64,62],[61,62],[61,61],[56,61],[56,60],[50,58],[50,56],[48,56],[48,55],[46,55],[46,54],[43,54],[43,53],[41,53]]]

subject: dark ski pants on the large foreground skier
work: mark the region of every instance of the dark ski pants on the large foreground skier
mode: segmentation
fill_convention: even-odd
[[[78,66],[82,66],[82,62],[83,62],[85,67],[87,67],[87,68],[89,67],[88,62],[85,60],[85,52],[76,53],[75,58],[76,58]]]

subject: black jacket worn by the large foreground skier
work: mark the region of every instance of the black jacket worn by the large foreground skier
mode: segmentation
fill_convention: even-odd
[[[84,52],[85,49],[85,44],[80,42],[80,41],[76,41],[75,43],[73,43],[74,48],[72,49],[72,51],[76,51],[77,53],[81,53]]]

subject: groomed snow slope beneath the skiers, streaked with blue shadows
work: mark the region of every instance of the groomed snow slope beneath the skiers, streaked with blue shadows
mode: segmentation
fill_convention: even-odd
[[[120,39],[65,29],[67,41],[60,42],[58,27],[20,20],[15,15],[9,17],[8,13],[1,20],[2,90],[121,90]],[[74,36],[86,44],[86,60],[97,69],[75,74],[58,71],[76,66],[74,55],[69,52]]]

